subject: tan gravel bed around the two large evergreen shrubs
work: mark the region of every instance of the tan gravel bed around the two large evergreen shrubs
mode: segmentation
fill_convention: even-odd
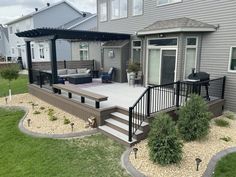
[[[138,148],[137,159],[134,158],[133,152],[129,159],[133,166],[140,172],[149,177],[201,177],[207,168],[207,165],[216,153],[236,146],[236,121],[223,118],[230,122],[230,127],[218,127],[214,120],[211,121],[210,133],[206,139],[184,143],[183,159],[178,165],[160,166],[153,164],[149,160],[149,148],[147,140],[137,144]],[[219,119],[217,118],[217,119]],[[220,138],[230,137],[231,141],[226,142]],[[196,171],[195,159],[199,157],[202,162],[199,166],[199,171]]]

